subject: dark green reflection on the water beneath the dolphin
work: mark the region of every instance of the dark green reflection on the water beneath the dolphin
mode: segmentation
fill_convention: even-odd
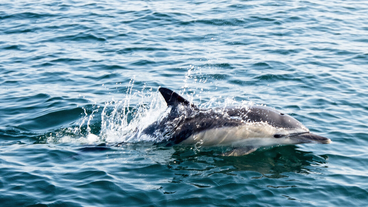
[[[174,147],[172,161],[167,165],[174,170],[206,171],[208,175],[224,173],[236,175],[237,171],[254,171],[261,173],[256,178],[284,178],[286,172],[316,173],[317,168],[325,167],[327,155],[315,155],[312,152],[298,150],[295,145],[272,148],[260,148],[243,156],[224,157],[220,149],[190,150],[190,147]]]

